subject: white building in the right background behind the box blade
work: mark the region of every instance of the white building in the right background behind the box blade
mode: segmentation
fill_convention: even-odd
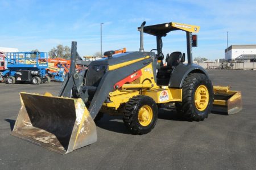
[[[225,60],[243,60],[244,62],[255,62],[256,45],[231,45],[225,49]]]

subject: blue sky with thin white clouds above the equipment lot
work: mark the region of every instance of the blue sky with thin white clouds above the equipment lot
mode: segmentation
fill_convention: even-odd
[[[58,44],[77,41],[80,56],[126,47],[139,50],[137,27],[179,22],[200,25],[193,57],[224,58],[229,45],[256,44],[256,1],[29,1],[0,0],[0,46],[19,51],[48,52]],[[186,52],[185,32],[163,38],[163,53]],[[155,37],[144,36],[144,49],[156,47]]]

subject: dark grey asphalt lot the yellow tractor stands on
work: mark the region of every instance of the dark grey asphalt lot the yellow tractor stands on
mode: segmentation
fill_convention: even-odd
[[[208,73],[214,85],[242,91],[240,113],[187,122],[175,110],[162,109],[146,135],[129,134],[122,117],[105,114],[97,124],[98,141],[67,155],[9,134],[20,109],[19,92],[56,95],[61,83],[0,83],[0,169],[255,169],[256,71]]]

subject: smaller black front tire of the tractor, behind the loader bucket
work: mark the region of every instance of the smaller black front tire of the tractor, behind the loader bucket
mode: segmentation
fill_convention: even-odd
[[[150,111],[144,117],[146,120],[139,121],[141,109]],[[143,114],[143,113],[142,113]],[[149,117],[148,117],[149,116]],[[142,115],[141,115],[142,117]],[[148,96],[132,97],[126,104],[123,110],[123,122],[132,134],[147,134],[154,129],[158,120],[158,107],[155,101]],[[142,125],[144,124],[144,125]]]

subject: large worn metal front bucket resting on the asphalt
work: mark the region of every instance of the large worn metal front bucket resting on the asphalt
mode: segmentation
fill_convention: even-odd
[[[20,93],[12,135],[59,154],[97,141],[96,125],[81,99]]]

